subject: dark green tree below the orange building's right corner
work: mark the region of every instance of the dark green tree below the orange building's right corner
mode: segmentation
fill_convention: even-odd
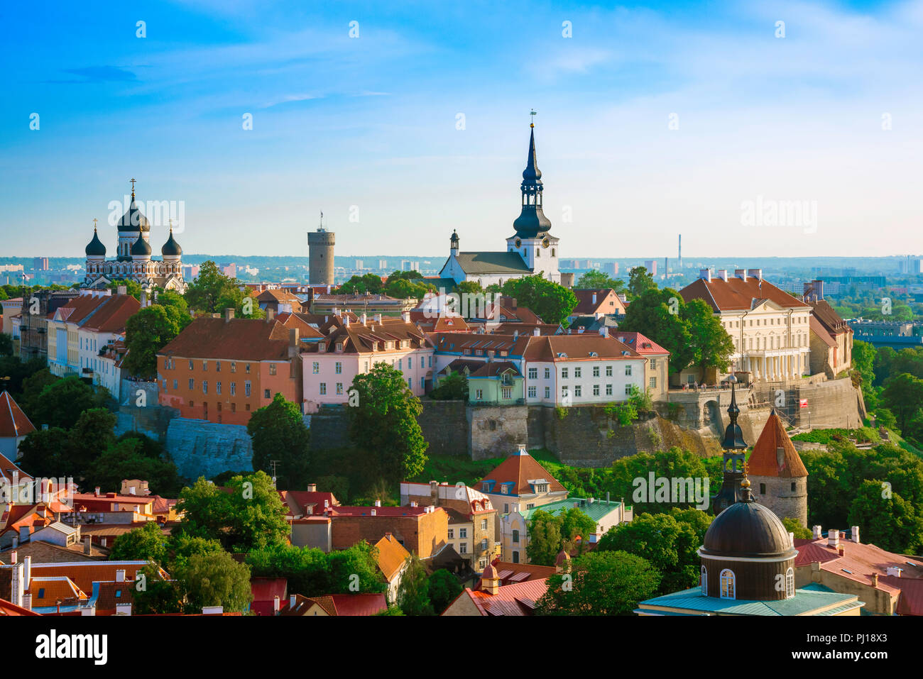
[[[253,441],[253,468],[270,471],[270,461],[278,459],[284,480],[282,488],[305,487],[308,479],[310,432],[301,409],[277,393],[268,406],[250,416],[246,433]],[[278,483],[277,483],[278,485]]]

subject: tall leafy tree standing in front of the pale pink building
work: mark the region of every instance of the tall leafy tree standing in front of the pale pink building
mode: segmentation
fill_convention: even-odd
[[[391,482],[412,478],[423,471],[426,448],[416,418],[423,412],[404,382],[403,373],[387,363],[377,363],[364,375],[356,375],[347,408],[350,435],[357,447],[377,456],[380,474]],[[369,426],[369,423],[375,423]]]

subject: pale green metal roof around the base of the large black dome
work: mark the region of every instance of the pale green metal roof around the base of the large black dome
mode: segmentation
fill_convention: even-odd
[[[784,599],[778,602],[754,602],[747,600],[719,599],[706,597],[701,593],[701,588],[693,587],[689,590],[675,591],[662,597],[648,599],[640,602],[640,606],[668,606],[670,608],[685,608],[690,611],[716,613],[724,615],[803,615],[817,611],[834,603],[839,605],[818,615],[833,615],[849,611],[864,605],[858,601],[854,594],[838,594],[836,592],[817,590],[795,590],[793,599]],[[639,610],[650,612],[649,608]],[[659,612],[658,612],[659,613]]]

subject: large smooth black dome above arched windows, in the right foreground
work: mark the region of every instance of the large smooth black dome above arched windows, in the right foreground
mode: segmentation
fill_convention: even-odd
[[[705,533],[701,554],[719,558],[794,558],[797,550],[788,537],[788,529],[771,509],[744,501],[727,507],[714,518]]]

